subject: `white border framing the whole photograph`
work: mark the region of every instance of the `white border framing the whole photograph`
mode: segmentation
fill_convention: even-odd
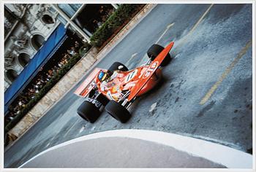
[[[1,37],[4,36],[4,4],[22,4],[22,3],[27,3],[27,4],[34,4],[35,1],[34,0],[23,0],[23,1],[13,1],[13,0],[2,0],[0,1],[0,33],[1,33]],[[256,152],[256,143],[255,143],[255,107],[256,107],[256,103],[255,103],[255,1],[251,0],[251,1],[243,1],[243,0],[232,0],[232,1],[221,1],[221,0],[215,0],[215,1],[205,1],[205,0],[160,0],[160,1],[156,1],[156,0],[140,0],[140,1],[136,1],[136,0],[129,0],[129,1],[124,1],[124,0],[110,0],[110,1],[100,1],[100,0],[86,0],[86,1],[78,1],[78,0],[57,0],[57,1],[52,1],[52,0],[42,0],[40,1],[40,3],[43,4],[53,4],[53,3],[87,3],[87,4],[99,4],[99,3],[108,3],[108,4],[138,4],[138,3],[145,3],[145,4],[252,4],[252,131],[253,131],[253,136],[252,136],[252,145],[253,145],[253,168],[252,170],[237,170],[237,169],[211,169],[211,168],[207,168],[207,169],[184,169],[184,168],[175,168],[175,169],[170,169],[170,168],[157,168],[157,169],[144,169],[144,168],[132,168],[132,169],[124,169],[124,168],[95,168],[95,169],[90,169],[89,171],[255,171],[255,152]],[[1,39],[3,40],[3,39]],[[0,53],[1,53],[1,57],[4,57],[4,42],[1,41],[0,42]],[[4,107],[4,58],[0,58],[0,65],[1,65],[1,85],[0,85],[0,102],[1,102],[1,107]],[[58,168],[58,170],[56,170],[56,168],[31,168],[31,169],[15,169],[15,168],[4,168],[4,108],[1,108],[1,113],[0,113],[0,126],[1,126],[1,130],[0,130],[0,143],[1,143],[1,149],[0,149],[0,171],[74,171],[72,170],[72,168]],[[86,168],[85,168],[86,169]],[[84,168],[75,168],[75,171],[85,171]]]

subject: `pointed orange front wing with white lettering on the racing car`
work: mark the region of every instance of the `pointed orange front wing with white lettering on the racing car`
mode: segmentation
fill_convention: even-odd
[[[146,85],[146,82],[148,82],[148,79],[151,78],[151,76],[154,74],[154,72],[157,70],[157,68],[160,66],[162,61],[165,59],[165,56],[169,53],[170,49],[172,49],[174,42],[170,42],[170,44],[165,47],[162,52],[157,55],[157,58],[154,59],[148,66],[148,69],[143,73],[142,78],[136,84],[132,89],[130,90],[130,94],[128,97],[128,101],[131,101],[132,98],[135,98],[135,96],[140,92],[140,90]]]

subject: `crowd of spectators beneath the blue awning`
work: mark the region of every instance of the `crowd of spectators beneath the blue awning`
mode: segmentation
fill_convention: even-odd
[[[10,122],[13,118],[20,113],[21,109],[26,107],[26,103],[39,93],[39,90],[46,85],[50,79],[58,73],[59,69],[63,68],[69,60],[79,53],[80,44],[75,42],[75,45],[70,47],[67,52],[64,52],[61,55],[61,58],[53,66],[45,66],[44,68],[39,69],[37,76],[33,79],[31,85],[26,87],[22,93],[18,96],[18,101],[15,102],[15,106],[10,109],[10,113],[7,117],[6,122]]]

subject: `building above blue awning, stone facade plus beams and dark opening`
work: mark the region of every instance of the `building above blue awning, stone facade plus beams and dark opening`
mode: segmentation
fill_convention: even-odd
[[[118,4],[4,4],[4,90],[18,77],[59,23],[84,42]]]

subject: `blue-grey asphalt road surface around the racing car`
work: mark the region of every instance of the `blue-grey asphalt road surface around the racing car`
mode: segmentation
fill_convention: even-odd
[[[170,26],[170,24],[172,24]],[[170,26],[167,29],[167,26]],[[163,82],[138,98],[122,124],[103,112],[94,124],[76,114],[72,92],[4,153],[4,168],[72,138],[121,128],[159,130],[252,149],[252,5],[159,4],[105,58],[132,68],[148,47],[175,42]],[[132,57],[132,58],[131,58]]]

